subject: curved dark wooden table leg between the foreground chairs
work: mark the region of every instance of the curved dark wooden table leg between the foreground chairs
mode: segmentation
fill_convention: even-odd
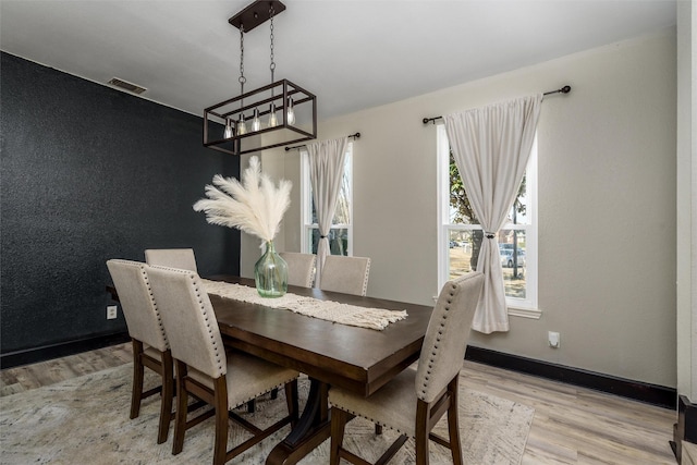
[[[266,460],[267,465],[295,464],[330,437],[328,393],[329,384],[310,378],[303,415],[289,436],[273,448]]]

